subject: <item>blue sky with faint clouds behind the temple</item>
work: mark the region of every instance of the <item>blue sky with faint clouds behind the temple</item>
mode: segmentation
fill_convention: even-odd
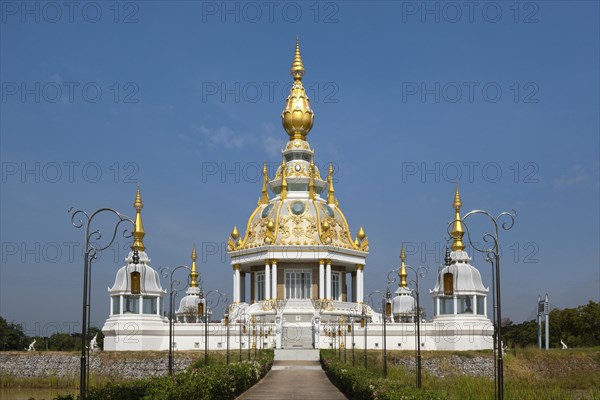
[[[280,160],[296,36],[308,140],[371,243],[367,293],[402,242],[433,288],[458,180],[464,212],[517,210],[504,315],[532,318],[546,292],[600,300],[597,2],[1,4],[0,315],[30,334],[80,320],[67,210],[132,216],[138,180],[152,265],[188,263],[197,243],[205,287],[231,292],[225,241],[260,195],[257,166]],[[94,265],[99,324],[127,246]]]

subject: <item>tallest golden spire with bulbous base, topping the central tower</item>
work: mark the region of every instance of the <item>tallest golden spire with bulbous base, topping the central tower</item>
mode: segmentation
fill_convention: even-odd
[[[312,129],[315,115],[310,108],[310,100],[302,85],[304,63],[300,55],[300,41],[298,39],[296,39],[296,53],[294,54],[290,73],[294,77],[294,83],[281,113],[281,124],[288,133],[290,140],[306,140],[306,135]]]

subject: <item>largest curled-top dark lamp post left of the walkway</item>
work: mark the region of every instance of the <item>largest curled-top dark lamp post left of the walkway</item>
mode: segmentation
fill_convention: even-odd
[[[83,257],[83,305],[82,305],[82,317],[81,317],[81,365],[79,371],[79,398],[81,400],[85,400],[87,397],[87,390],[89,384],[89,366],[88,366],[88,358],[89,358],[89,348],[87,345],[87,332],[89,330],[90,324],[90,297],[91,297],[91,266],[92,262],[98,258],[98,254],[103,250],[106,250],[110,247],[116,237],[117,231],[119,230],[119,226],[122,222],[130,222],[134,227],[135,223],[125,215],[119,213],[118,211],[112,208],[100,208],[94,211],[91,214],[83,210],[74,210],[71,208],[69,210],[71,214],[71,223],[75,228],[82,228],[85,226],[85,245],[84,250],[85,254]],[[116,221],[114,230],[112,232],[112,237],[107,245],[98,245],[97,241],[102,238],[102,233],[100,230],[95,229],[91,230],[91,224],[94,218],[99,214],[112,214],[118,218]],[[131,234],[126,234],[126,231],[123,232],[124,237],[131,237]],[[135,258],[137,256],[137,258]],[[137,248],[134,253],[134,263],[137,264],[139,262],[139,256],[137,255]]]

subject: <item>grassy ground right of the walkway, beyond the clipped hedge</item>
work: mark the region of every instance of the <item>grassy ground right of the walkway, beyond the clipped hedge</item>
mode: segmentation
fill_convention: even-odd
[[[322,352],[323,357],[336,363],[338,353]],[[367,353],[368,373],[382,382],[390,382],[406,387],[415,387],[414,367],[398,364],[398,359],[414,360],[411,351],[388,352],[388,377],[382,379],[383,356],[381,351]],[[465,362],[474,357],[492,360],[490,351],[473,352],[423,352],[423,360],[436,359],[441,369],[438,377],[422,371],[422,387],[431,393],[448,399],[480,400],[494,398],[493,377],[468,376],[449,361],[454,356]],[[346,354],[347,368],[352,368],[351,351]],[[355,367],[364,371],[364,352],[355,352]],[[344,367],[346,368],[346,367]],[[364,373],[364,372],[363,372]],[[600,348],[569,350],[538,350],[537,348],[517,349],[504,356],[504,393],[506,400],[600,400]],[[416,389],[415,389],[416,390]]]

